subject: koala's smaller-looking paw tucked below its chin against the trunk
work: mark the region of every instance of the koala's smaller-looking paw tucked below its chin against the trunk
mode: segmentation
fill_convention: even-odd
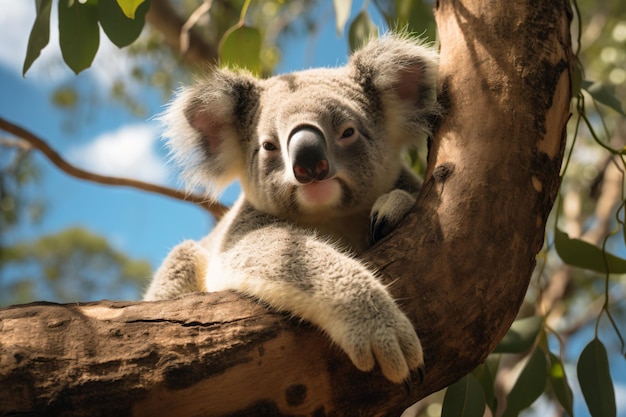
[[[400,224],[415,204],[415,197],[404,190],[395,189],[381,195],[370,212],[370,244],[387,236]]]

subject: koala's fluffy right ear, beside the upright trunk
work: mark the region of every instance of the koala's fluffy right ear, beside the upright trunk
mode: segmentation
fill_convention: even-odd
[[[392,140],[430,134],[440,113],[437,103],[439,56],[429,46],[405,35],[387,34],[355,52],[348,66],[366,94],[378,94]]]

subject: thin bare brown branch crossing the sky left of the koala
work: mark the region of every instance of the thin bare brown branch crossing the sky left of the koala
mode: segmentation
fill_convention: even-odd
[[[9,132],[26,142],[28,142],[33,148],[36,148],[41,153],[43,153],[50,162],[52,162],[57,168],[61,171],[65,172],[68,175],[71,175],[75,178],[80,178],[86,181],[96,182],[98,184],[106,184],[106,185],[117,185],[117,186],[126,186],[137,188],[142,191],[148,191],[156,194],[161,194],[167,197],[175,198],[177,200],[187,201],[190,203],[194,203],[209,213],[211,213],[217,220],[219,220],[224,213],[228,210],[227,207],[223,206],[219,202],[209,201],[206,197],[199,196],[196,194],[186,193],[180,190],[174,190],[172,188],[163,187],[160,185],[150,184],[143,181],[133,180],[129,178],[120,178],[120,177],[109,177],[106,175],[94,174],[92,172],[87,172],[80,168],[75,167],[74,165],[67,162],[65,159],[61,157],[54,149],[52,149],[44,140],[40,139],[35,134],[29,132],[28,130],[17,126],[3,118],[0,117],[0,129]]]

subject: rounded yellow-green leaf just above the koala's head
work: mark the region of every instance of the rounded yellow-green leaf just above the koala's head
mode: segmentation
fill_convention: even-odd
[[[220,64],[261,75],[261,32],[249,26],[226,31],[220,42]]]

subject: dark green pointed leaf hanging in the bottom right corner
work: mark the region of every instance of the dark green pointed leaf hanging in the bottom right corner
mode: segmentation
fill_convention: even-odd
[[[615,391],[606,349],[593,339],[578,358],[578,382],[592,417],[615,417]]]

